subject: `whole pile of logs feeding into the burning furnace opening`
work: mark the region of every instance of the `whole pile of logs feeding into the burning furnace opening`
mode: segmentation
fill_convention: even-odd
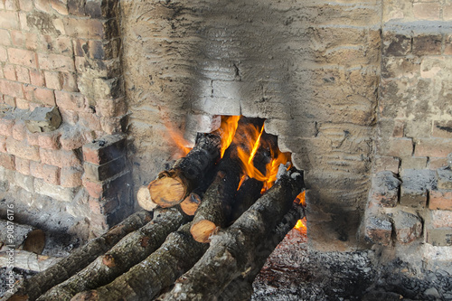
[[[198,134],[188,155],[140,189],[145,211],[2,300],[250,299],[265,260],[304,216],[294,202],[303,173],[281,165],[277,182],[261,195],[263,183],[245,177],[236,154],[250,146],[234,138],[221,154],[225,135],[223,127]],[[276,145],[264,135],[267,146]],[[269,153],[259,147],[257,168],[265,170]]]

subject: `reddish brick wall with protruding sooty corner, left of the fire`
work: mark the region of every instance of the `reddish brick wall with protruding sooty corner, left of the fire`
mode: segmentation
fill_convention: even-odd
[[[0,172],[4,193],[21,196],[17,208],[52,204],[49,214],[89,221],[91,234],[127,214],[120,47],[116,0],[0,0]],[[31,131],[40,108],[58,108],[61,125]],[[106,195],[113,181],[124,190]]]

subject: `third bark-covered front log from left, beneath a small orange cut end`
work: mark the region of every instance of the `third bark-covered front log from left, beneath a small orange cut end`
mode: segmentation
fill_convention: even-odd
[[[71,301],[140,301],[158,296],[192,268],[208,248],[207,244],[193,240],[190,226],[187,223],[168,235],[159,249],[113,282],[77,294]]]

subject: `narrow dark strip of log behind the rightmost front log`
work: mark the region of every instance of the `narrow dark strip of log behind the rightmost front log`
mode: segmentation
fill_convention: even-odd
[[[231,281],[231,283],[224,288],[221,295],[218,296],[218,301],[247,301],[250,300],[253,294],[253,281],[259,274],[260,269],[264,266],[271,252],[277,248],[278,244],[284,240],[289,230],[292,230],[297,221],[305,217],[305,211],[300,204],[293,203],[292,209],[284,215],[282,221],[279,221],[277,227],[272,230],[268,238],[259,244],[255,250],[257,254],[254,259],[252,268],[247,271],[246,275],[240,275]]]

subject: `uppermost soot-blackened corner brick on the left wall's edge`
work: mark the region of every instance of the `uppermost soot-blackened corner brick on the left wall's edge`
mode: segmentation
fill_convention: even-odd
[[[103,136],[83,146],[86,162],[103,165],[125,153],[126,138],[122,135]]]

